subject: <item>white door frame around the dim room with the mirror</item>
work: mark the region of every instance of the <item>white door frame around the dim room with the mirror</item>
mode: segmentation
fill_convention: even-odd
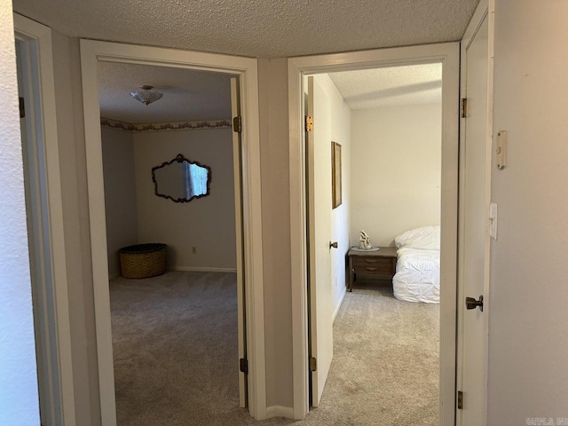
[[[256,59],[125,43],[81,40],[83,114],[91,226],[91,260],[99,363],[102,423],[116,425],[114,362],[106,255],[106,217],[100,139],[99,60],[199,69],[239,75],[242,114],[242,209],[245,317],[248,354],[248,411],[257,420],[266,416],[264,371],[264,290],[260,187],[260,139]],[[235,362],[235,369],[238,367]]]

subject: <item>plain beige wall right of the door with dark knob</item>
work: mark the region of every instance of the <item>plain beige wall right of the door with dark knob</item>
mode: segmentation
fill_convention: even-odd
[[[568,2],[495,2],[488,424],[568,418]],[[494,145],[493,145],[494,148]],[[494,150],[493,150],[494,152]],[[536,424],[536,423],[532,423]]]

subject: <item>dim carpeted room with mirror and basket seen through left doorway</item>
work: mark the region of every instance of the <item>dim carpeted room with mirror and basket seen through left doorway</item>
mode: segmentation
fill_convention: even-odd
[[[142,83],[153,88],[139,90]],[[211,71],[99,62],[119,424],[195,422],[200,411],[213,421],[246,406],[247,383],[235,368],[247,357],[237,327],[241,181],[233,169],[241,163],[233,161],[232,83]],[[146,105],[132,99],[136,90],[162,97]],[[155,242],[167,243],[164,274],[146,272],[138,255],[119,256]]]

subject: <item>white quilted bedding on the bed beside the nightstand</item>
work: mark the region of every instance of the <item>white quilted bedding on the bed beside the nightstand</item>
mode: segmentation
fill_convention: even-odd
[[[398,248],[397,273],[392,279],[392,287],[399,300],[439,304],[439,250]]]

